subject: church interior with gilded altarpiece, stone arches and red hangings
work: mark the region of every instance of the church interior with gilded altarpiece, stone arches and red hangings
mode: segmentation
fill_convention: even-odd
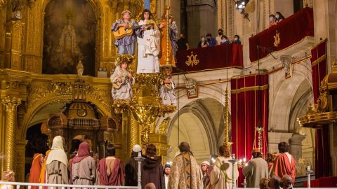
[[[121,102],[110,80],[119,60],[112,25],[124,10],[138,22],[144,8],[153,20],[170,14],[188,48],[157,74],[138,72],[136,48],[133,96]],[[275,13],[284,19],[273,24]],[[151,143],[163,165],[182,141],[199,164],[223,144],[250,160],[253,148],[278,153],[285,141],[297,186],[308,167],[312,180],[336,179],[336,18],[337,0],[0,0],[0,171],[27,181],[34,153],[60,135],[68,157],[88,141],[100,158],[113,144],[126,162],[134,145]],[[219,29],[241,43],[198,46]],[[176,103],[163,104],[168,72]]]

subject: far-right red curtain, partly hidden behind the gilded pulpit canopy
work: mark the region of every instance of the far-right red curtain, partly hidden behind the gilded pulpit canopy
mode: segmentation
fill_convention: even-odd
[[[316,45],[311,50],[312,63],[312,89],[315,103],[319,97],[319,87],[327,74],[326,40]],[[331,176],[331,158],[329,148],[329,125],[323,125],[316,130],[315,138],[315,173],[316,178]]]

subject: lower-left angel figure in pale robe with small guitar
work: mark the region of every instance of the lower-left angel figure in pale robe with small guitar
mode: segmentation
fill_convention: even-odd
[[[120,55],[117,60],[116,69],[110,76],[112,82],[112,98],[114,100],[131,100],[134,83],[133,76],[128,71],[128,65],[133,61],[132,55]]]

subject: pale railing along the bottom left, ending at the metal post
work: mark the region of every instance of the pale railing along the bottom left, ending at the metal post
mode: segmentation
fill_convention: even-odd
[[[1,189],[20,189],[20,188],[27,188],[31,189],[32,186],[37,186],[39,189],[47,188],[48,189],[79,189],[79,188],[109,188],[109,189],[141,189],[141,186],[94,186],[94,185],[71,185],[71,184],[50,184],[50,183],[18,183],[18,182],[5,182],[0,181],[0,188]]]

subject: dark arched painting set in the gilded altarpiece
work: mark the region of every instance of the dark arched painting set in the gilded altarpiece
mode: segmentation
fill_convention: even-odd
[[[95,14],[86,0],[51,0],[44,18],[43,73],[95,76]]]

